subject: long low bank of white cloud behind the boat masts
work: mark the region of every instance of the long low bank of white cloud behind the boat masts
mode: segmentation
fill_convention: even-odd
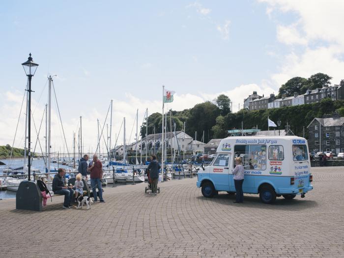
[[[175,111],[182,111],[184,109],[192,108],[198,103],[202,103],[204,101],[213,101],[218,95],[226,94],[233,102],[233,111],[236,112],[238,110],[238,104],[242,105],[244,98],[251,94],[252,91],[258,91],[259,94],[270,94],[273,92],[273,89],[268,86],[258,86],[256,84],[250,85],[241,85],[237,86],[232,90],[218,92],[218,93],[197,93],[197,94],[178,94],[175,93],[174,101],[172,103],[165,104],[165,111],[168,111],[170,108]],[[22,103],[24,93],[18,91],[7,91],[5,93],[1,93],[0,97],[3,101],[0,103],[0,110],[3,114],[6,114],[6,119],[0,123],[0,145],[9,143],[12,145],[16,124],[18,121],[18,116],[20,113],[20,106]],[[35,107],[37,103],[33,100],[32,107]],[[110,105],[110,100],[109,100]],[[109,106],[108,106],[109,107]],[[146,108],[148,108],[148,116],[152,113],[162,112],[162,101],[153,100],[149,101],[146,99],[138,98],[130,93],[126,93],[125,99],[114,99],[113,100],[113,128],[112,128],[112,146],[115,144],[115,136],[118,138],[117,144],[123,143],[123,128],[120,130],[123,117],[126,118],[126,141],[133,142],[136,133],[136,110],[139,109],[139,119],[138,125],[139,130],[140,126],[142,125],[144,113]],[[242,108],[242,106],[241,106]],[[34,114],[34,120],[36,123],[36,127],[39,127],[40,121],[42,119],[44,110],[44,104],[38,104],[37,109]],[[98,110],[96,107],[87,110],[87,113],[83,110],[74,110],[69,114],[61,114],[63,129],[66,135],[66,141],[69,148],[69,152],[73,153],[72,150],[72,143],[73,143],[73,132],[76,132],[76,137],[78,138],[78,132],[80,127],[80,118],[79,114],[82,116],[82,134],[83,134],[83,145],[84,150],[87,153],[94,152],[97,146],[97,119],[99,119],[99,123],[101,128],[104,125],[105,118],[107,115],[108,109],[106,110]],[[18,132],[16,136],[16,142],[14,144],[15,147],[24,146],[24,133],[25,133],[25,103],[23,105],[22,115],[20,119],[20,123],[18,126]],[[110,130],[110,112],[108,118],[105,122],[105,127],[103,130],[104,138],[106,139],[107,135],[107,127],[106,124],[109,126]],[[100,129],[101,130],[101,129]],[[158,129],[157,129],[158,130]],[[131,134],[131,138],[130,138]],[[40,141],[42,144],[43,151],[45,149],[45,118],[43,119],[42,129],[40,133]],[[130,140],[129,140],[130,138]],[[59,117],[56,113],[55,104],[52,105],[52,151],[63,151],[64,146],[64,139],[63,133],[61,129],[61,125],[59,122]],[[36,133],[33,126],[33,122],[31,123],[31,142],[32,147],[36,142]],[[78,142],[78,141],[77,141]],[[101,150],[106,151],[106,146],[104,140],[101,141]],[[66,148],[65,148],[66,151]],[[39,146],[36,148],[36,152],[40,152]]]

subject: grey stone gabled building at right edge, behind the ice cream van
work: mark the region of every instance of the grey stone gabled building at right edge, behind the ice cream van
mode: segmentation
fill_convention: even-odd
[[[315,117],[307,128],[310,151],[344,152],[344,117],[338,114],[328,118]]]

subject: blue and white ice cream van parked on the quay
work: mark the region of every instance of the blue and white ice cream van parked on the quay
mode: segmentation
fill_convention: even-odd
[[[276,197],[305,197],[313,189],[307,140],[296,136],[240,136],[223,139],[216,157],[197,174],[204,197],[235,193],[232,170],[236,157],[245,169],[243,192],[259,194],[264,203]]]

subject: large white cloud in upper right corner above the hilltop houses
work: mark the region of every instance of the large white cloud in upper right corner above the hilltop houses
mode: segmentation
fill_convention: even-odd
[[[332,76],[335,84],[343,79],[344,1],[314,0],[312,4],[300,0],[258,1],[267,3],[269,17],[278,11],[297,15],[291,24],[277,25],[278,40],[291,46],[291,50],[282,59],[280,71],[271,76],[274,83],[280,86],[294,76],[307,78],[317,72]],[[296,51],[296,46],[301,49]]]

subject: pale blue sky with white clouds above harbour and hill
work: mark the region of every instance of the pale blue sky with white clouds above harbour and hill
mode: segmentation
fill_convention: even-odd
[[[139,128],[146,108],[148,115],[162,112],[163,85],[176,92],[166,109],[226,94],[237,112],[254,90],[277,93],[295,76],[323,72],[339,84],[343,13],[342,0],[1,1],[0,145],[24,146],[25,103],[20,111],[27,77],[21,63],[29,53],[39,64],[31,86],[36,126],[47,103],[47,76],[57,75],[53,151],[64,148],[58,104],[69,151],[82,116],[84,150],[94,152],[97,119],[106,136],[112,99],[114,145],[116,135],[123,143],[123,117],[126,142],[133,142],[137,110]],[[45,118],[43,149],[44,136]],[[33,145],[36,138],[32,125]]]

